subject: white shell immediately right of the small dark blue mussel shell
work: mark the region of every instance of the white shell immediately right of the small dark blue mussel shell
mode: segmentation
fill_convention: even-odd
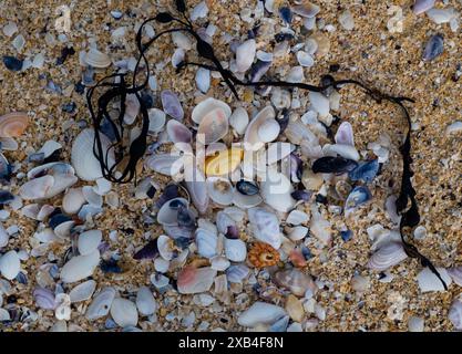
[[[294,208],[296,201],[291,197],[292,191],[290,180],[278,171],[268,170],[265,180],[260,183],[260,195],[265,202],[281,212]]]

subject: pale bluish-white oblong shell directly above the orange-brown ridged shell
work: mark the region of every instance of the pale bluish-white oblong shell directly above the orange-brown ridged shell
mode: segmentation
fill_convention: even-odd
[[[279,220],[273,212],[264,208],[255,207],[248,209],[248,219],[250,221],[250,231],[254,237],[266,242],[275,249],[281,244]]]

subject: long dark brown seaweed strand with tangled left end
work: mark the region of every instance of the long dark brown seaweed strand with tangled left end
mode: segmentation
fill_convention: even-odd
[[[404,143],[402,144],[400,148],[403,167],[402,167],[402,176],[401,176],[401,190],[396,202],[397,210],[402,217],[400,221],[401,240],[402,240],[402,244],[403,244],[405,253],[410,258],[419,259],[423,267],[429,267],[429,269],[438,277],[438,279],[440,279],[442,284],[444,285],[444,289],[448,289],[445,282],[441,278],[435,267],[431,263],[431,261],[428,258],[425,258],[423,254],[421,254],[415,248],[415,246],[409,243],[409,241],[407,241],[407,239],[404,238],[404,228],[409,227],[412,229],[420,222],[419,208],[418,208],[418,204],[415,200],[415,189],[413,188],[412,181],[411,181],[411,177],[413,176],[413,173],[411,170],[411,164],[412,164],[411,117],[409,115],[408,108],[403,104],[403,102],[413,103],[414,101],[408,97],[390,96],[390,95],[383,94],[380,91],[376,88],[371,88],[368,85],[357,80],[335,80],[330,75],[325,76],[325,79],[327,79],[325,80],[325,82],[328,82],[328,83],[325,85],[320,85],[320,86],[310,85],[306,83],[289,83],[289,82],[284,82],[284,81],[248,82],[248,81],[238,80],[229,70],[226,70],[222,66],[219,60],[214,53],[213,46],[208,44],[207,42],[205,42],[198,35],[198,33],[194,30],[192,22],[186,15],[186,6],[185,6],[184,0],[175,0],[175,4],[176,4],[177,11],[182,14],[182,17],[184,18],[186,22],[173,17],[168,12],[161,12],[155,18],[150,18],[146,21],[144,21],[143,24],[140,27],[136,33],[136,46],[140,51],[140,58],[137,60],[137,63],[133,73],[131,86],[127,86],[125,82],[126,74],[113,74],[113,75],[104,77],[95,86],[89,88],[89,92],[86,95],[88,105],[89,105],[90,114],[93,121],[93,126],[95,129],[94,155],[100,162],[104,178],[114,183],[120,183],[120,184],[131,181],[136,175],[136,165],[138,160],[143,157],[146,150],[148,116],[147,116],[147,108],[145,107],[145,104],[141,100],[141,96],[138,93],[146,87],[148,79],[150,79],[148,61],[145,56],[145,52],[163,34],[177,32],[177,31],[184,31],[184,32],[189,33],[192,37],[194,37],[194,39],[196,40],[197,54],[201,58],[207,61],[211,61],[212,64],[184,62],[179,65],[178,70],[187,65],[195,65],[195,66],[208,69],[211,71],[218,71],[224,82],[230,88],[230,91],[233,92],[233,94],[236,96],[237,100],[239,100],[239,96],[238,96],[236,86],[297,87],[297,88],[307,90],[311,92],[324,92],[325,90],[329,87],[335,87],[337,90],[340,90],[341,86],[347,85],[347,84],[357,85],[357,86],[360,86],[366,92],[366,94],[371,96],[376,102],[381,103],[382,101],[388,101],[392,104],[400,106],[404,113],[404,117],[405,117],[407,125],[408,125],[408,131],[407,131]],[[158,33],[157,35],[155,35],[148,42],[142,43],[143,28],[146,23],[152,22],[152,21],[156,21],[158,23],[177,22],[184,27],[165,30]],[[138,66],[142,60],[145,65],[145,80],[142,84],[136,85]],[[119,77],[120,80],[119,83],[106,82],[107,80],[115,79],[115,77]],[[100,98],[97,100],[97,112],[94,112],[93,104],[92,104],[92,96],[94,94],[95,88],[97,87],[110,87],[110,88],[100,96]],[[123,146],[123,116],[125,112],[125,100],[126,100],[127,94],[136,95],[136,98],[138,100],[140,105],[141,105],[140,112],[142,115],[142,124],[143,124],[140,136],[134,142],[132,142],[132,144],[129,147],[129,152],[126,152],[127,147]],[[116,119],[116,122],[114,122],[111,118],[107,112],[109,103],[115,98],[120,100],[121,102],[121,112],[119,114],[119,118]],[[111,126],[114,128],[115,138],[116,138],[116,143],[111,145],[106,152],[103,152],[102,144],[101,144],[101,136],[100,136],[100,134],[102,134],[101,123],[103,118],[106,118],[110,122]],[[116,163],[114,166],[110,167],[107,164],[107,155],[109,155],[109,150],[111,149],[114,149]],[[116,177],[115,171],[117,170],[117,167],[120,166],[120,164],[122,163],[125,156],[130,156],[129,162],[122,171],[122,176]],[[409,209],[407,209],[408,206],[409,206]]]

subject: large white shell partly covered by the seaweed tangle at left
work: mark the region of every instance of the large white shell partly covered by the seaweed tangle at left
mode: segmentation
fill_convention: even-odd
[[[76,175],[83,180],[95,180],[103,177],[100,162],[93,154],[94,131],[92,128],[83,129],[74,139],[71,152],[72,166]],[[101,146],[104,156],[107,154],[107,165],[113,166],[115,163],[114,149],[107,148],[111,145],[110,139],[100,134]]]

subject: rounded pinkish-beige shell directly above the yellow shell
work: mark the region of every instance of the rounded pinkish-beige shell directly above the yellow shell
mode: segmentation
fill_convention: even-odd
[[[228,134],[228,116],[220,107],[209,111],[201,121],[197,140],[204,145],[218,142]]]

